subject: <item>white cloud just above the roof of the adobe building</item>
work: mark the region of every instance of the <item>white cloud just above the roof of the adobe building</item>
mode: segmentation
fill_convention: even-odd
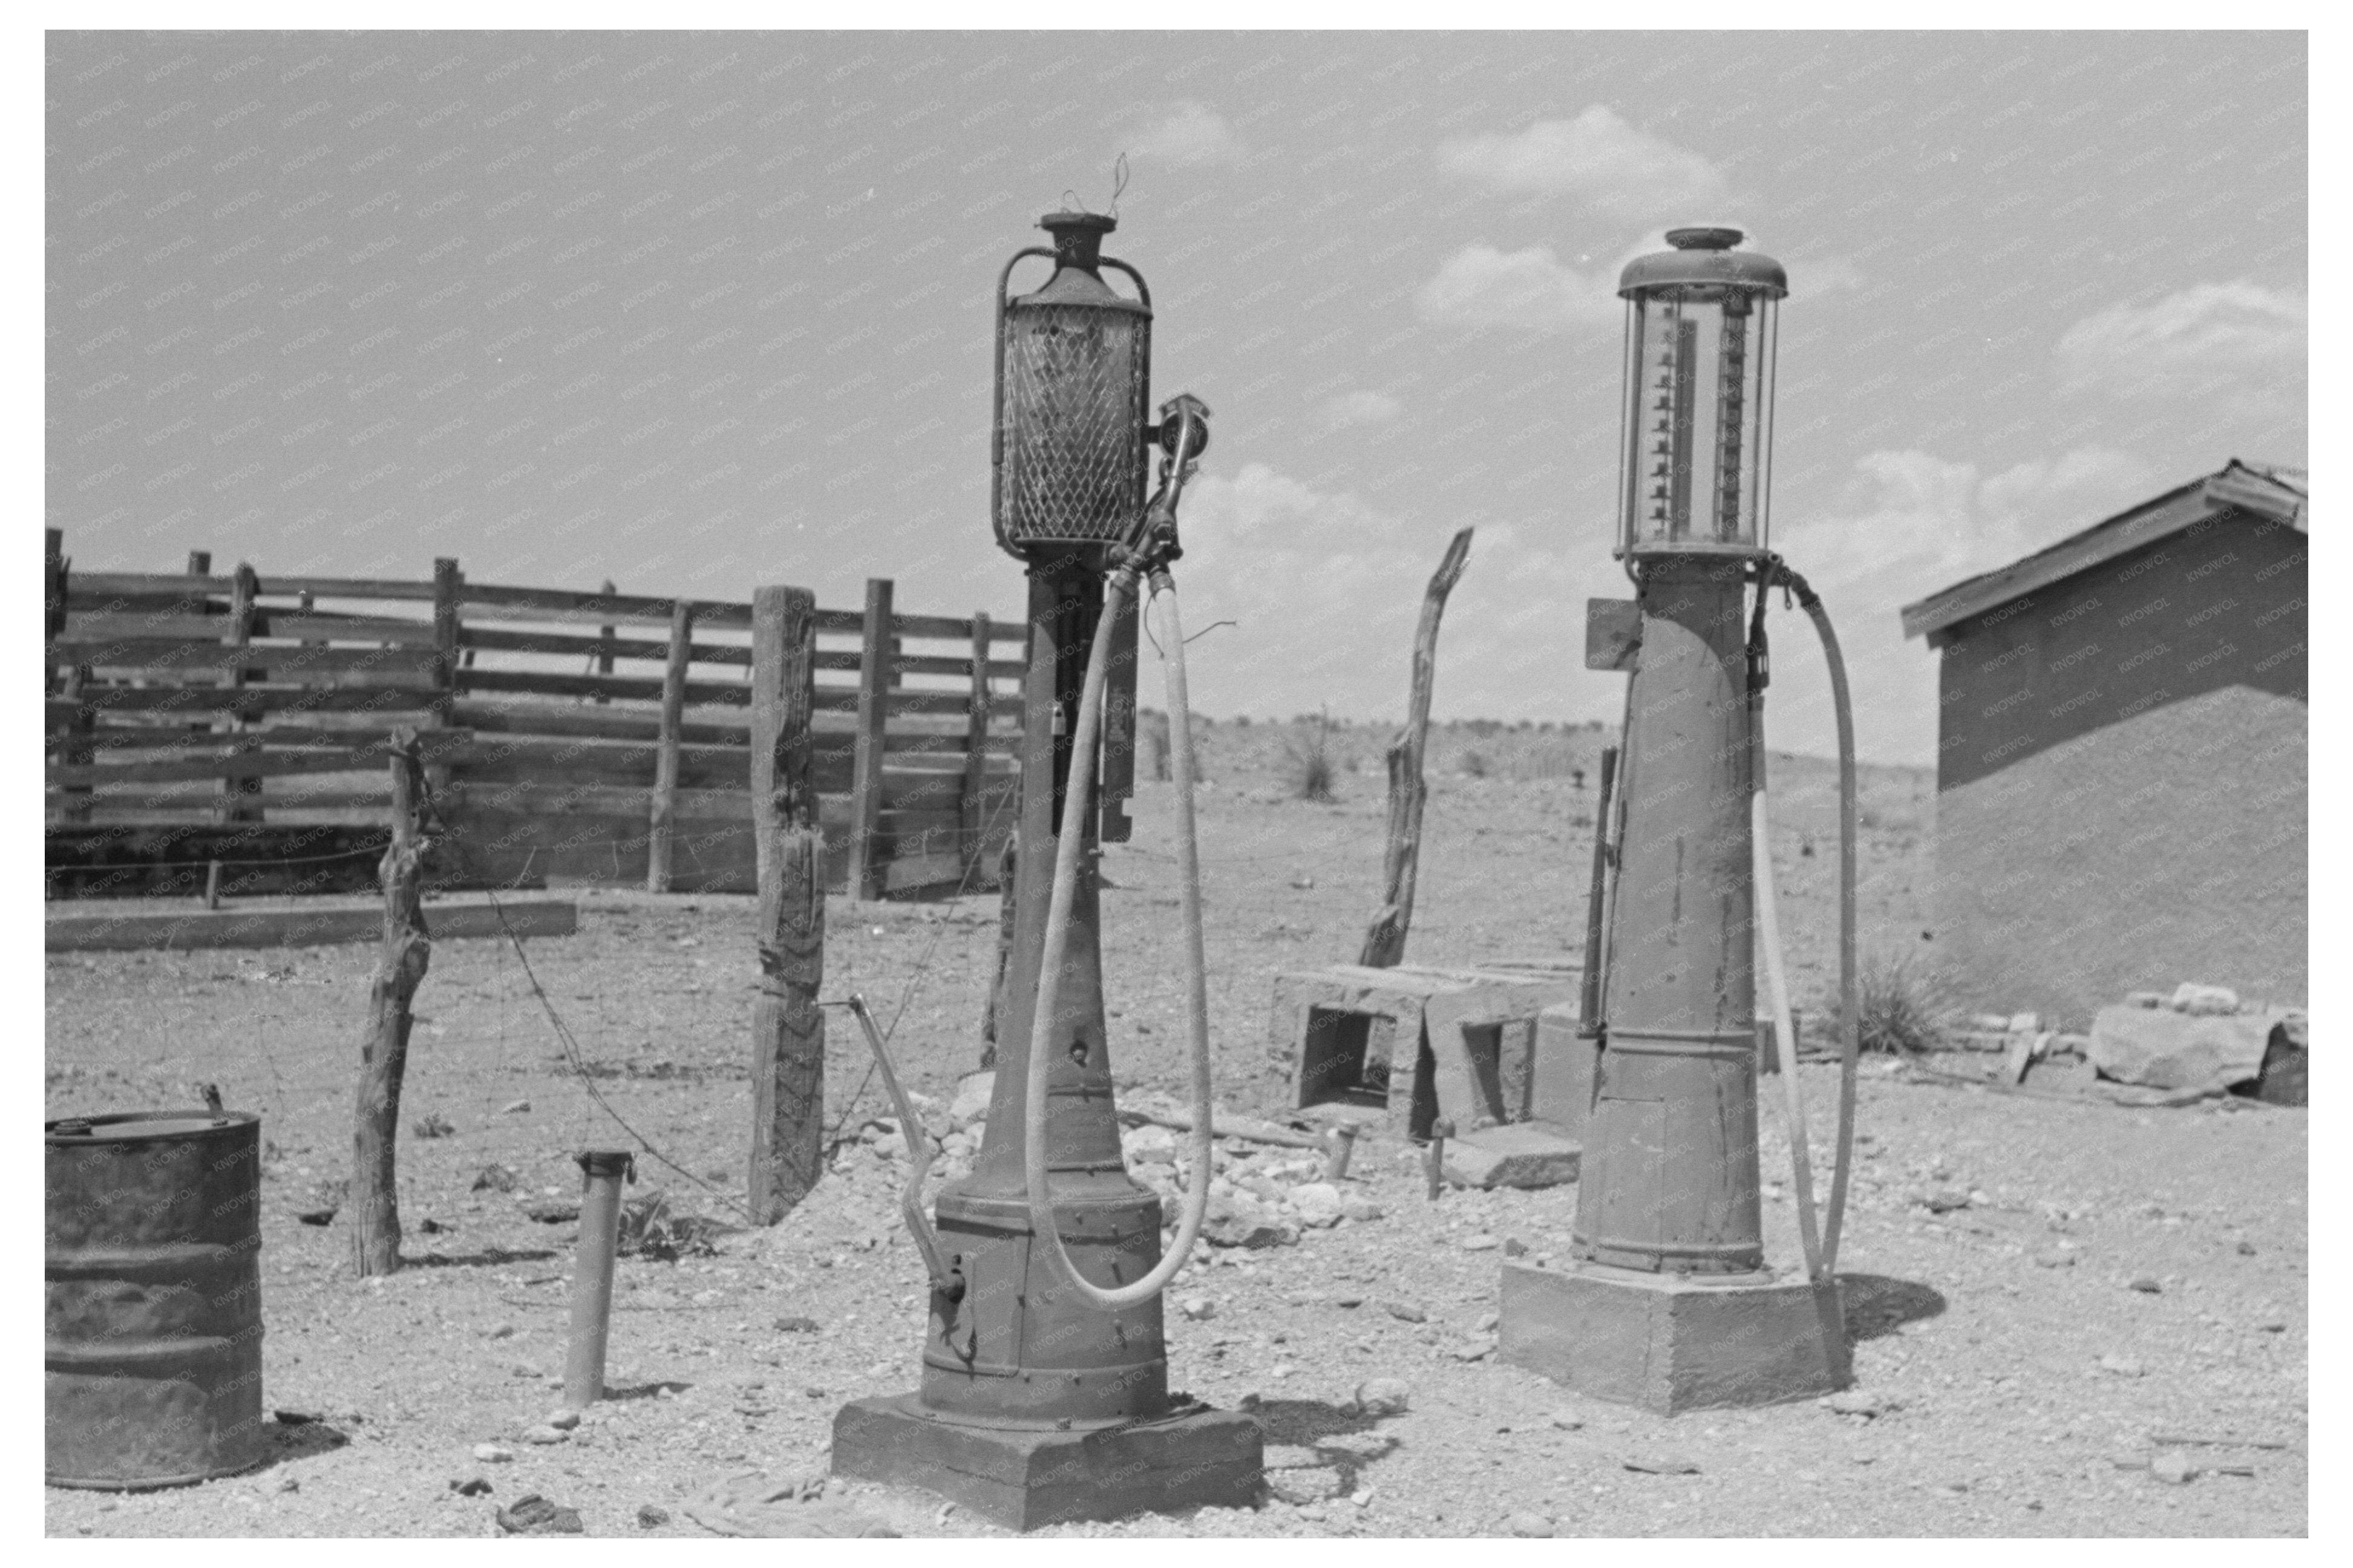
[[[2200,283],[2111,306],[2059,339],[2059,386],[2125,400],[2202,400],[2231,412],[2304,407],[2308,308],[2259,283]]]

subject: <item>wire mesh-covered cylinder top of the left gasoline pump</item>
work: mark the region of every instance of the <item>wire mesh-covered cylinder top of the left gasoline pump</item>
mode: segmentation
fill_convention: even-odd
[[[1035,294],[998,285],[998,544],[1108,544],[1144,504],[1144,410],[1151,379],[1151,297],[1125,261],[1101,257],[1113,219],[1049,212],[1038,224],[1054,250],[1054,275]],[[1136,280],[1139,299],[1115,294],[1101,268]],[[1012,261],[1007,264],[1012,275]]]

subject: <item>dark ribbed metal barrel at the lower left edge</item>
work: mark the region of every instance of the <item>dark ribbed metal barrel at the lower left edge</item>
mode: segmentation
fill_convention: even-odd
[[[49,1486],[259,1464],[261,1118],[127,1111],[45,1132]]]

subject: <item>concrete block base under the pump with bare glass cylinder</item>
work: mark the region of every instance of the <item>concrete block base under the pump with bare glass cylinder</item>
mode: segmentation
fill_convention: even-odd
[[[1812,1398],[1854,1375],[1835,1281],[1506,1262],[1501,1318],[1504,1361],[1659,1415]]]

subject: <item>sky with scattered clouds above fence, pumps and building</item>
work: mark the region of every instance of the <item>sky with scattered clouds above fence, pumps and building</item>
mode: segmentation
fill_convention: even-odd
[[[1904,603],[2306,461],[2306,82],[2301,33],[49,33],[45,516],[78,570],[1014,617],[991,294],[1115,198],[1214,414],[1195,709],[1400,718],[1475,527],[1438,718],[1614,723],[1617,273],[1725,221],[1791,278],[1772,544],[1925,765]]]

